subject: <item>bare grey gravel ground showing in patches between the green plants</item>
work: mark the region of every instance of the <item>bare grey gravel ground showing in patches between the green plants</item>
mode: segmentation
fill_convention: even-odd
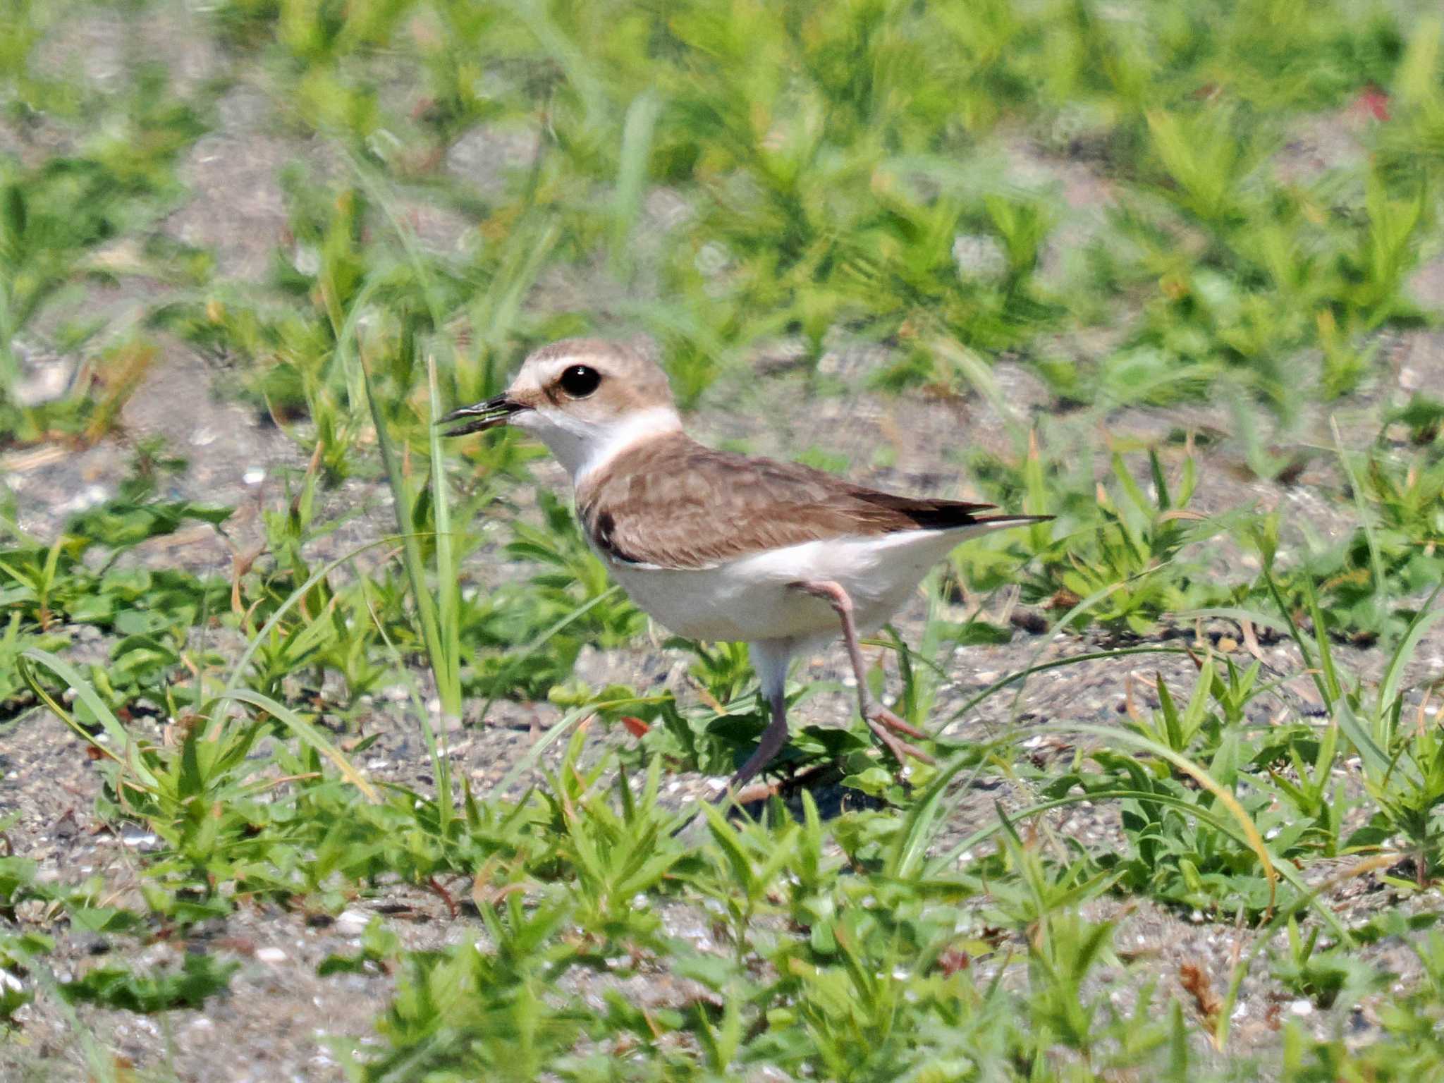
[[[97,32],[103,32],[104,26]],[[204,72],[214,58],[189,58]],[[315,162],[318,152],[292,137],[264,129],[267,110],[257,103],[256,91],[241,88],[221,105],[219,129],[192,150],[185,178],[193,189],[189,204],[170,219],[176,237],[217,248],[219,266],[240,277],[263,271],[271,248],[282,243],[284,221],[276,170],[295,157]],[[462,160],[465,156],[469,159]],[[497,155],[518,150],[514,133],[497,136]],[[1320,118],[1302,131],[1281,168],[1315,169],[1317,160],[1352,153],[1352,140],[1341,124]],[[458,149],[459,169],[488,162],[485,142]],[[1070,205],[1080,222],[1074,243],[1087,235],[1087,218],[1106,201],[1106,180],[1087,163],[1057,162],[1032,152],[1019,140],[1018,159],[1032,170],[1054,170],[1063,182]],[[472,165],[466,165],[466,162]],[[658,198],[658,205],[666,201]],[[575,286],[575,284],[573,284]],[[585,284],[576,286],[585,289]],[[1430,303],[1444,300],[1444,264],[1425,270],[1417,283]],[[114,306],[133,305],[137,296],[108,296]],[[1372,438],[1378,430],[1380,407],[1399,390],[1444,386],[1444,336],[1435,332],[1411,332],[1382,344],[1385,375],[1349,404],[1340,416],[1349,438]],[[786,351],[781,354],[786,360]],[[875,352],[840,347],[825,361],[825,371],[840,380],[856,381],[877,361]],[[36,361],[38,370],[46,361]],[[52,364],[64,365],[64,361]],[[1021,365],[1004,361],[995,370],[1001,400],[1009,416],[978,397],[927,397],[911,394],[892,399],[855,393],[803,399],[803,380],[778,364],[777,355],[760,355],[757,371],[745,378],[723,380],[706,397],[695,427],[710,439],[747,439],[764,453],[790,455],[806,448],[820,448],[846,455],[858,464],[859,479],[898,490],[956,494],[957,456],[969,446],[985,446],[999,453],[1014,452],[1014,433],[1021,423],[1041,427],[1066,425],[1057,419],[1045,388]],[[227,401],[215,388],[225,374],[178,345],[169,345],[146,383],[126,407],[120,432],[104,443],[84,451],[40,446],[12,452],[0,461],[12,490],[20,501],[22,526],[40,536],[51,536],[66,516],[111,495],[126,475],[129,445],[159,433],[169,446],[189,459],[188,471],[178,479],[178,492],[234,504],[235,518],[228,524],[230,542],[214,531],[192,530],[163,539],[139,556],[155,565],[182,566],[195,572],[228,573],[232,547],[244,550],[260,539],[258,511],[282,500],[280,475],[300,471],[305,459],[297,445],[254,410]],[[176,409],[182,394],[185,409]],[[1370,427],[1370,425],[1373,427]],[[1253,504],[1282,508],[1295,527],[1307,524],[1321,536],[1331,536],[1353,523],[1353,510],[1339,488],[1339,478],[1327,456],[1311,459],[1291,484],[1242,481],[1242,455],[1226,438],[1230,417],[1226,410],[1190,409],[1126,410],[1108,419],[1109,432],[1118,438],[1157,439],[1177,429],[1225,433],[1201,452],[1201,487],[1196,504],[1204,511],[1223,511]],[[1317,412],[1300,425],[1291,438],[1300,449],[1328,448],[1333,438],[1328,419]],[[874,451],[888,449],[890,465],[868,468]],[[1096,464],[1099,477],[1106,461]],[[560,484],[562,475],[550,465],[539,468],[543,484]],[[1249,475],[1251,477],[1251,475]],[[393,529],[388,498],[381,487],[368,481],[348,481],[326,494],[328,507],[319,518],[348,508],[362,508],[342,530],[318,543],[315,554],[325,557],[371,540]],[[524,504],[524,501],[523,501]],[[1233,559],[1227,553],[1220,559]],[[492,582],[508,573],[495,547],[484,547],[472,557],[468,575],[477,582]],[[985,612],[1002,618],[1006,598],[978,599]],[[898,621],[908,637],[921,624],[921,602],[914,604]],[[1167,631],[1167,630],[1165,630]],[[1170,632],[1171,634],[1171,632]],[[101,656],[108,644],[95,637],[79,637],[77,651],[84,657]],[[989,682],[1034,661],[1097,650],[1108,644],[1095,638],[1058,635],[1043,638],[1019,632],[1005,645],[966,647],[954,658],[953,682],[943,692],[936,716],[953,715],[966,699]],[[1300,660],[1288,644],[1268,644],[1265,660],[1279,673],[1301,671]],[[1341,648],[1341,658],[1356,670],[1370,674],[1382,667],[1376,653]],[[1246,654],[1240,654],[1248,661]],[[690,695],[677,677],[682,656],[650,645],[611,653],[591,651],[582,666],[591,680],[612,679],[645,687],[663,683],[682,696]],[[817,679],[840,680],[840,651],[806,660],[803,671]],[[1123,712],[1129,674],[1145,687],[1154,670],[1174,686],[1190,677],[1184,660],[1118,658],[1080,663],[1053,670],[1031,680],[1014,700],[995,696],[963,718],[950,735],[962,739],[991,736],[1018,725],[1019,755],[1034,757],[1040,767],[1066,764],[1071,747],[1054,736],[1028,735],[1028,726],[1045,722],[1116,723]],[[1435,630],[1417,654],[1411,679],[1444,676],[1444,634]],[[425,683],[425,674],[417,679]],[[1142,693],[1139,693],[1142,695]],[[1310,708],[1307,682],[1294,682],[1288,692],[1295,705]],[[1148,697],[1142,695],[1147,705]],[[846,716],[845,693],[812,697],[800,709],[796,725],[829,723]],[[1276,705],[1275,705],[1276,706]],[[451,755],[458,771],[465,771],[478,791],[487,791],[530,748],[537,726],[556,718],[550,705],[497,703],[485,728],[468,728],[453,735]],[[1266,721],[1266,719],[1261,719]],[[367,767],[377,778],[422,783],[426,773],[425,747],[416,725],[400,705],[378,700],[361,718],[362,729],[378,741],[367,752]],[[625,735],[595,734],[598,749]],[[136,835],[117,835],[92,814],[98,780],[81,742],[55,718],[32,710],[0,728],[0,816],[17,813],[7,830],[13,852],[39,862],[42,877],[69,879],[101,872],[123,898],[133,888],[133,855],[147,845]],[[695,801],[713,791],[716,780],[676,777],[664,784],[667,800],[677,804]],[[1356,783],[1357,780],[1350,780]],[[995,803],[1022,807],[1031,796],[1022,784],[988,783],[988,788],[969,791],[939,838],[939,846],[966,838],[979,826],[992,823]],[[1106,843],[1118,838],[1116,810],[1074,807],[1060,812],[1048,826],[1086,843]],[[1311,875],[1327,877],[1334,869],[1315,866]],[[1343,879],[1328,891],[1328,900],[1346,920],[1356,920],[1388,905],[1418,905],[1395,900],[1372,877]],[[1116,937],[1121,953],[1161,979],[1168,995],[1187,996],[1177,985],[1178,967],[1194,963],[1212,978],[1216,989],[1226,986],[1229,969],[1248,941],[1232,927],[1194,921],[1152,905],[1148,901],[1103,898],[1090,904],[1090,917],[1119,921]],[[94,960],[124,960],[153,965],[166,954],[185,950],[219,952],[243,963],[228,993],[206,1004],[204,1011],[176,1011],[165,1018],[82,1009],[81,1030],[107,1045],[123,1063],[143,1069],[172,1071],[182,1080],[251,1082],[335,1080],[341,1079],[329,1035],[361,1040],[371,1031],[374,1017],[383,1009],[391,982],[384,973],[338,975],[318,978],[316,966],[331,953],[355,950],[358,936],[371,914],[381,914],[409,947],[429,947],[456,941],[478,933],[477,923],[462,915],[449,917],[442,901],[432,894],[396,888],[357,902],[338,918],[318,920],[274,907],[243,908],[224,923],[205,928],[189,943],[137,946],[129,937],[107,939],[55,928],[59,947],[55,963],[59,972],[78,972]],[[39,915],[30,915],[39,917]],[[677,905],[664,915],[679,936],[705,937],[708,926],[687,907]],[[1412,973],[1411,954],[1404,944],[1383,941],[1366,949],[1367,957],[1396,970],[1404,980]],[[604,978],[588,978],[602,982]],[[686,991],[666,976],[650,976],[640,985],[660,1002],[682,999]],[[1276,1043],[1281,1015],[1311,1021],[1320,1032],[1339,1022],[1350,1032],[1366,1035],[1373,1021],[1367,1006],[1336,1019],[1328,1014],[1305,1011],[1268,978],[1261,960],[1243,983],[1238,1006],[1235,1041],[1243,1048],[1266,1048]],[[0,1079],[51,1080],[87,1079],[77,1045],[75,1027],[45,1002],[23,1012],[16,1040],[0,1045]]]

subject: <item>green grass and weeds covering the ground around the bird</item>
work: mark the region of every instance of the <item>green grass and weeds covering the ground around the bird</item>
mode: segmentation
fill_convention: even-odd
[[[64,48],[97,14],[124,27],[105,87]],[[204,78],[153,58],[147,19],[209,45]],[[351,1079],[1437,1076],[1444,404],[1395,386],[1391,349],[1438,321],[1411,283],[1444,247],[1441,35],[1404,0],[12,4],[0,453],[120,446],[157,355],[195,351],[296,468],[228,578],[142,557],[232,517],[173,495],[160,442],[43,537],[0,477],[0,736],[68,725],[94,816],[159,839],[129,894],[0,846],[0,1034],[52,1011],[124,1077],[87,1012],[204,1005],[234,967],[61,975],[56,939],[419,890],[461,936],[412,950],[378,920],[322,965],[390,975],[373,1040],[338,1037]],[[166,227],[232,92],[296,159],[256,279]],[[874,644],[936,767],[898,777],[859,721],[799,728],[784,771],[835,765],[852,810],[676,807],[676,775],[728,774],[765,723],[745,651],[667,641],[680,687],[578,679],[585,653],[653,650],[645,618],[563,498],[520,497],[534,448],[433,425],[593,331],[648,334],[687,409],[868,393],[996,419],[960,484],[1056,518],[959,549],[917,634]],[[822,364],[856,344],[882,360]],[[758,375],[777,348],[797,364]],[[78,367],[35,401],[46,351]],[[1220,507],[1238,481],[1255,495]],[[348,482],[394,523],[338,553],[368,510],[331,511]],[[1291,514],[1300,491],[1346,526]],[[1008,644],[1024,663],[954,684],[959,648]],[[1028,718],[1044,677],[1100,660],[1113,723]],[[393,687],[430,760],[407,783],[362,767]],[[500,784],[455,770],[458,721],[539,702],[557,721]],[[1083,807],[1103,838],[1060,827]],[[1229,937],[1227,972],[1141,957],[1135,908]],[[1385,937],[1402,980],[1366,950]],[[686,992],[622,992],[658,976]],[[1324,1022],[1251,1037],[1246,980]]]

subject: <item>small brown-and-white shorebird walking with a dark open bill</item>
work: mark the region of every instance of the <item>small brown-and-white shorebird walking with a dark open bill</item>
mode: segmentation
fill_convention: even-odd
[[[791,462],[713,451],[682,430],[667,375],[601,339],[543,347],[504,394],[442,419],[448,436],[514,425],[572,475],[591,546],[631,599],[692,640],[748,644],[771,723],[735,790],[787,744],[787,669],[839,634],[858,708],[901,764],[927,735],[868,692],[858,634],[878,628],[959,540],[1045,516],[898,497]],[[901,736],[900,736],[901,735]]]

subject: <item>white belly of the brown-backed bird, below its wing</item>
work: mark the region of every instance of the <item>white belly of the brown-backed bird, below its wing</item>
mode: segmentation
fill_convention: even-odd
[[[656,621],[689,640],[817,638],[840,631],[832,606],[799,580],[840,583],[859,632],[884,624],[937,563],[975,530],[918,530],[807,542],[716,567],[670,570],[608,560],[622,589]]]

